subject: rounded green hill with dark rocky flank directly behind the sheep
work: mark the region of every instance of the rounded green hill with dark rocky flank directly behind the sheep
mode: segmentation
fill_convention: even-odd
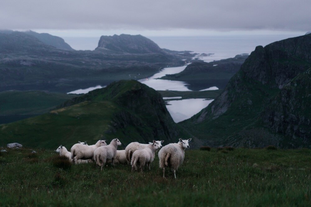
[[[19,142],[49,149],[70,147],[79,140],[92,144],[118,137],[126,146],[153,139],[176,142],[179,136],[188,134],[174,123],[162,96],[135,80],[114,82],[49,113],[0,125],[1,146]]]

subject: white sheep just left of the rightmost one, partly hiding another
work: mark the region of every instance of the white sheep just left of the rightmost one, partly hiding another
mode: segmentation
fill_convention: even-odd
[[[156,141],[153,140],[153,143],[148,144],[147,147],[141,150],[136,150],[133,153],[131,165],[132,165],[132,172],[134,170],[137,170],[137,161],[140,163],[139,168],[141,169],[141,172],[145,165],[149,167],[150,170],[150,164],[153,162],[155,158],[155,152],[159,149],[159,146],[157,145]]]

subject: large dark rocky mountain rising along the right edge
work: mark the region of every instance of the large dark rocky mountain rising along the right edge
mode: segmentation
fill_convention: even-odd
[[[311,147],[311,35],[258,46],[223,92],[182,123],[211,145]]]

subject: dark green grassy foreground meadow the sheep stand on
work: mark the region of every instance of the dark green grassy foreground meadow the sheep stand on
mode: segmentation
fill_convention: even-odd
[[[0,206],[310,206],[311,150],[241,149],[228,153],[186,150],[177,179],[151,171],[94,163],[53,166],[55,152],[2,153]],[[22,173],[21,173],[22,172]],[[35,178],[35,179],[34,179]]]

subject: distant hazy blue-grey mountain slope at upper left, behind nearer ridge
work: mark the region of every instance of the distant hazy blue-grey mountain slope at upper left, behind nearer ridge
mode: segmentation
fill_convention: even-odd
[[[35,38],[39,39],[41,42],[43,42],[43,43],[45,43],[47,45],[56,47],[58,49],[69,50],[69,51],[74,50],[74,49],[72,49],[70,47],[70,45],[68,45],[64,41],[63,38],[60,38],[60,37],[57,37],[57,36],[53,36],[53,35],[48,34],[48,33],[37,33],[37,32],[31,31],[31,30],[26,31],[25,33],[29,34],[29,35],[32,35]]]

